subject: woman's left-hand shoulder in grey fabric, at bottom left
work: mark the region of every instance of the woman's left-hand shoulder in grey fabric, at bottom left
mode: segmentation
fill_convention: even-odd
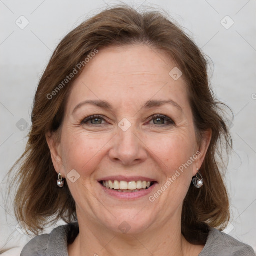
[[[67,245],[75,239],[78,232],[77,222],[58,226],[49,234],[41,234],[31,239],[20,256],[68,256]]]

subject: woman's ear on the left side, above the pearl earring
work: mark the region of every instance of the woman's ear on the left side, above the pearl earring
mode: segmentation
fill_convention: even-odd
[[[61,171],[63,164],[60,150],[60,142],[57,141],[57,134],[48,131],[45,137],[48,147],[50,149],[50,155],[54,169],[57,173],[60,172],[61,176],[64,177],[64,171]]]

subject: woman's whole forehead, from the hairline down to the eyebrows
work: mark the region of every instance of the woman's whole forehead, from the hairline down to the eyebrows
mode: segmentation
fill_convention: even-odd
[[[177,68],[174,61],[148,45],[99,49],[72,85],[68,109],[86,99],[133,107],[139,101],[167,100],[172,96],[183,104],[187,94],[185,81],[182,76],[172,78],[173,68]]]

